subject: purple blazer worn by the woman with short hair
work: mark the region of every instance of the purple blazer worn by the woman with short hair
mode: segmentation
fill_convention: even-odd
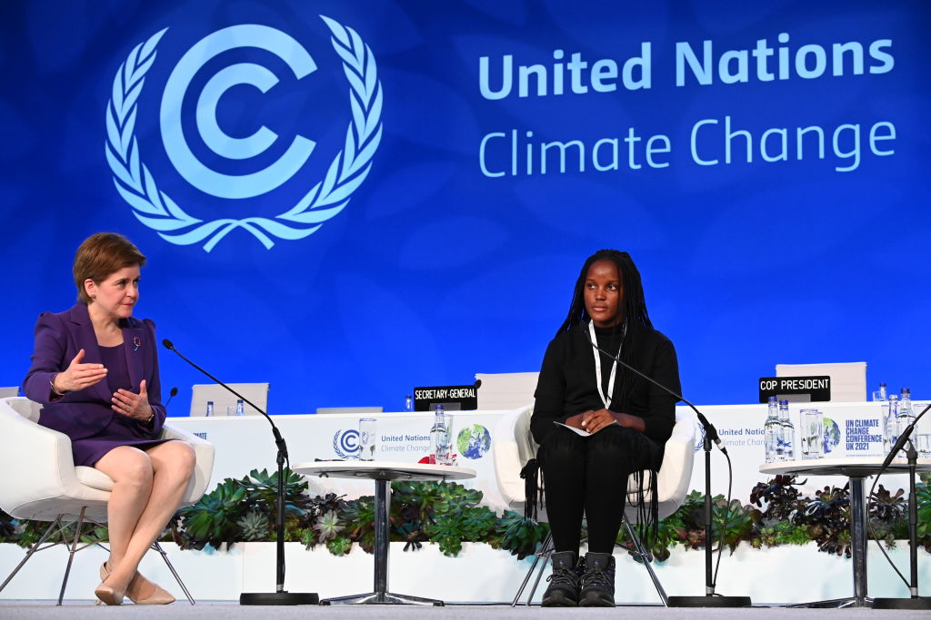
[[[132,391],[139,393],[145,379],[149,404],[155,412],[152,439],[158,439],[165,423],[161,384],[158,378],[158,352],[155,340],[155,323],[150,319],[129,317],[121,319],[123,349],[126,350]],[[43,312],[35,323],[35,349],[33,365],[22,383],[22,391],[30,401],[45,405],[39,424],[68,435],[72,440],[85,439],[97,434],[119,416],[111,405],[113,392],[106,378],[89,388],[69,392],[52,400],[49,379],[68,368],[79,350],[84,350],[84,363],[101,363],[101,349],[90,323],[87,305],[78,302],[71,310]],[[141,429],[150,430],[140,425]]]

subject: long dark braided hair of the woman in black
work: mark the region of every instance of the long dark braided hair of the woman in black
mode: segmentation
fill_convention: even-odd
[[[621,275],[623,298],[620,303],[622,320],[614,325],[614,330],[623,334],[623,343],[621,345],[620,358],[628,364],[633,363],[634,351],[637,349],[637,343],[640,339],[640,333],[643,328],[653,329],[653,323],[650,321],[650,315],[646,310],[646,300],[643,297],[643,284],[641,284],[640,271],[634,265],[633,259],[627,252],[617,250],[599,250],[588,257],[582,270],[579,272],[578,280],[575,281],[573,288],[573,301],[569,305],[569,313],[566,320],[563,321],[557,336],[562,332],[569,332],[573,329],[586,329],[590,320],[588,310],[585,307],[585,281],[588,277],[588,270],[599,260],[611,260],[617,265],[617,272]],[[586,336],[587,338],[587,336]],[[639,376],[631,373],[627,368],[621,366],[618,368],[620,376],[620,391],[617,394],[620,411],[627,410],[630,402],[630,395],[633,393],[634,386],[641,381]]]

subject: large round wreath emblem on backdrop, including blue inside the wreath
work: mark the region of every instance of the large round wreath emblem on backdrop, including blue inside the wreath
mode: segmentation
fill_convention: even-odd
[[[320,19],[331,34],[332,51],[319,56],[317,82],[307,78],[318,69],[307,48],[262,24],[209,33],[180,55],[167,79],[168,68],[155,60],[157,53],[172,61],[178,57],[170,28],[133,47],[107,102],[104,150],[116,191],[143,225],[171,244],[203,243],[206,252],[236,229],[271,249],[273,239],[303,239],[344,209],[368,176],[381,141],[382,85],[371,48],[358,33]],[[184,35],[179,29],[175,40]],[[321,91],[328,82],[334,84]],[[162,84],[159,102],[153,93]],[[344,139],[327,132],[338,118],[307,114],[311,104],[318,111],[318,99],[337,89],[349,125]],[[276,126],[290,123],[290,139],[256,117],[257,104],[267,98],[275,100],[264,116]],[[153,134],[161,135],[164,152],[151,144]],[[329,153],[312,161],[317,142],[302,134],[323,136]],[[150,140],[143,145],[141,139]],[[317,172],[309,173],[308,165]],[[214,200],[207,210],[215,217],[192,210],[204,211],[204,203]]]

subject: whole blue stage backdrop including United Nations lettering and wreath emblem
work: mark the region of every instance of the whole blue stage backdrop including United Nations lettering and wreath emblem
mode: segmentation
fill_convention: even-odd
[[[640,266],[698,403],[776,363],[928,398],[931,5],[0,7],[0,385],[95,231],[137,315],[274,414],[534,371],[585,257]],[[203,382],[161,350],[164,391]]]

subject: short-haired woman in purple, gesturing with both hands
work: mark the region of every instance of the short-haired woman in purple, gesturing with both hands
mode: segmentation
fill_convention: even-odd
[[[125,237],[101,232],[74,256],[77,303],[35,324],[23,392],[44,406],[39,424],[71,439],[74,465],[114,481],[107,506],[110,558],[101,602],[175,599],[138,572],[142,556],[181,504],[195,466],[187,442],[159,439],[165,423],[155,323],[132,316],[145,257]]]

